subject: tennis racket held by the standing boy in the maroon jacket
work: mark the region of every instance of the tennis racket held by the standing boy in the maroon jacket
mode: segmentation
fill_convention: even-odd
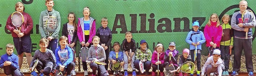
[[[24,17],[20,12],[13,12],[11,16],[12,24],[16,27],[17,30],[20,31],[20,26],[24,22]],[[19,28],[19,29],[18,29]],[[21,42],[21,39],[19,38],[19,41]]]

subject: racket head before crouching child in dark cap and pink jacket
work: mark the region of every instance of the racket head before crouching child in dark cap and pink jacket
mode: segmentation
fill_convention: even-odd
[[[173,64],[167,64],[167,65],[165,66],[164,74],[165,74],[166,76],[174,76],[174,75],[175,75],[175,72],[171,72],[171,71],[173,71],[173,70],[175,70]]]

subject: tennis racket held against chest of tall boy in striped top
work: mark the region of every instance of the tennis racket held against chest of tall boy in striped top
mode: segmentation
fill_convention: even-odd
[[[50,16],[47,18],[46,23],[45,23],[45,28],[48,33],[48,37],[52,36],[52,33],[55,32],[55,30],[58,27],[58,20],[56,17]]]

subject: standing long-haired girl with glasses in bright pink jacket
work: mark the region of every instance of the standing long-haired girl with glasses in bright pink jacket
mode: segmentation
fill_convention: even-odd
[[[219,49],[222,37],[222,27],[220,26],[220,20],[217,14],[214,13],[210,16],[204,28],[204,37],[206,38],[206,47],[208,47],[211,56],[211,50]]]

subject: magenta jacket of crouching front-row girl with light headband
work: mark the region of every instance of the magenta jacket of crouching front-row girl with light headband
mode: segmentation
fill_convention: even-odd
[[[156,50],[154,50],[154,52],[153,52],[153,54],[152,54],[152,60],[151,60],[151,62],[152,62],[152,64],[154,64],[154,65],[156,65],[156,62],[157,62],[158,60],[157,60],[157,52],[156,52]],[[161,52],[160,54],[159,54],[159,61],[161,61],[161,64],[164,64],[164,52]]]

